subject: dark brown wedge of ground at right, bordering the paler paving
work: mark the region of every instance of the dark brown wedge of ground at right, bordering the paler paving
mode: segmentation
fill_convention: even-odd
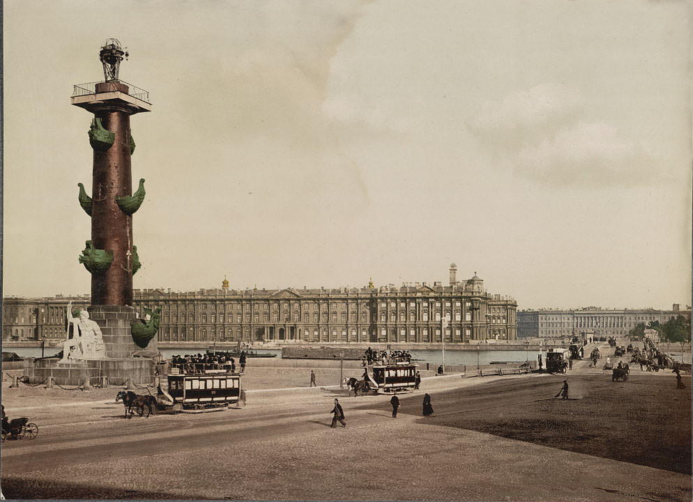
[[[531,384],[494,382],[439,393],[429,423],[691,473],[690,388],[676,389],[673,375],[569,379],[574,398],[568,400],[551,397],[563,378],[548,375]],[[403,405],[418,409],[416,401]]]

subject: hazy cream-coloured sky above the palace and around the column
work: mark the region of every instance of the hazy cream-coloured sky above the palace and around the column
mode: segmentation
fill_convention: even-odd
[[[3,3],[3,295],[89,294],[91,115],[131,118],[134,287],[478,274],[518,308],[691,303],[692,3]],[[137,189],[137,187],[133,187]]]

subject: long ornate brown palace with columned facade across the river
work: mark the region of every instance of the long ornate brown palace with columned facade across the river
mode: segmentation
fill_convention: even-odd
[[[135,290],[133,305],[140,315],[144,307],[162,308],[161,342],[439,343],[443,319],[448,321],[446,342],[515,340],[515,300],[489,294],[476,274],[457,281],[456,272],[453,263],[446,286],[434,282],[376,288],[371,282],[363,288],[230,290],[224,279],[221,288],[197,292]],[[49,300],[12,300],[13,304],[7,305],[9,314],[3,316],[3,340],[40,339],[39,334],[47,333],[46,329],[50,333],[65,322],[68,299],[50,299],[54,315],[46,319],[63,323],[50,324],[50,328],[43,327],[41,316],[38,322],[20,327],[18,319],[22,316],[12,314],[40,308],[40,302]],[[87,298],[84,305],[88,304]]]

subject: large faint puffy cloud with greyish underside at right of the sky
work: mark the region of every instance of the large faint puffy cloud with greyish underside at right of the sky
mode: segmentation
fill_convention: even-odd
[[[666,182],[653,155],[604,120],[588,120],[584,96],[541,84],[486,102],[470,131],[513,174],[542,185],[609,187]]]

